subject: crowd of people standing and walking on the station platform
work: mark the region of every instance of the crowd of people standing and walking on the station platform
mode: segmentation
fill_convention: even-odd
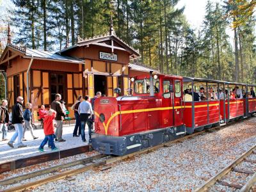
[[[89,96],[82,97],[79,95],[76,102],[71,107],[74,110],[76,118],[76,125],[74,127],[73,137],[79,137],[81,135],[82,141],[86,142],[85,127],[88,125],[88,136],[89,142],[91,139],[93,129],[93,108],[94,102],[97,98],[101,97],[102,94],[97,92],[95,97],[91,100]],[[31,136],[34,140],[38,138],[33,132],[31,125],[32,121],[32,104],[26,103],[26,109],[23,111],[24,99],[17,97],[16,103],[12,108],[12,120],[10,120],[10,114],[8,111],[8,101],[2,100],[0,107],[0,130],[3,132],[2,141],[7,141],[7,125],[11,122],[15,127],[15,133],[13,134],[7,145],[14,148],[13,143],[17,140],[17,147],[27,147],[22,141],[26,141],[25,132],[29,129]],[[49,111],[42,105],[38,111],[39,118],[42,120],[45,138],[42,141],[38,150],[44,152],[44,146],[48,143],[48,147],[51,150],[58,150],[54,145],[54,140],[58,142],[66,141],[63,136],[63,120],[65,119],[67,109],[65,108],[65,102],[61,100],[61,95],[56,94],[55,100],[52,101]],[[55,127],[55,128],[54,128]],[[54,131],[55,129],[55,131]]]

